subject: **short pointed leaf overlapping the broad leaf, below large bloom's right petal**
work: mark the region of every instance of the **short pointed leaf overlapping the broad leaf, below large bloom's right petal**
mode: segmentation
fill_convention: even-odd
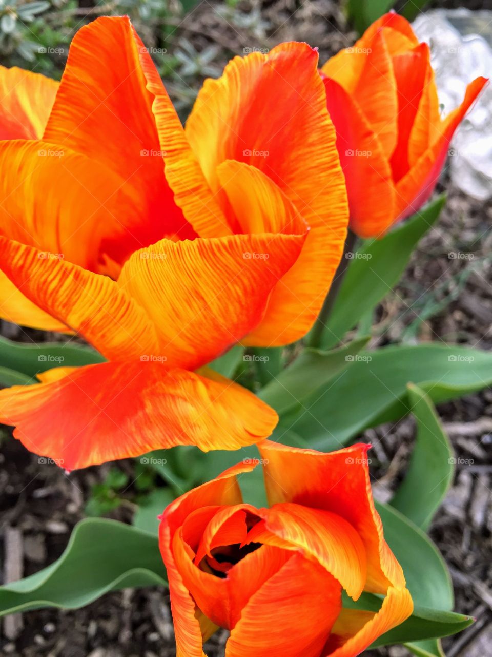
[[[268,383],[258,397],[266,401],[277,413],[285,413],[302,405],[312,392],[352,365],[356,355],[365,347],[369,337],[358,338],[346,347],[333,351],[304,349],[292,365]]]

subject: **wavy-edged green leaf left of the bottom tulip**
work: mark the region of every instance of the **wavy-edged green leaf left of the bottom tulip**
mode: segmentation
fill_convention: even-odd
[[[77,609],[108,591],[154,585],[166,585],[157,537],[89,518],[75,526],[51,566],[0,587],[0,616],[49,606]]]

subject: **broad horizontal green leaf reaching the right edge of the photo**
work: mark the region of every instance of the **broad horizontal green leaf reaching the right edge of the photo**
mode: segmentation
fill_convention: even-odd
[[[302,409],[286,413],[279,429],[288,428],[314,449],[338,449],[363,429],[406,415],[409,382],[434,403],[462,397],[492,384],[492,353],[440,344],[362,352]]]

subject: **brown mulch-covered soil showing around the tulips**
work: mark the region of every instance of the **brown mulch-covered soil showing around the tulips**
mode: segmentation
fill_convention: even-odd
[[[485,9],[492,3],[470,1],[467,6]],[[244,7],[246,11],[249,6]],[[218,44],[221,64],[231,53],[289,39],[318,45],[323,60],[355,38],[332,0],[267,0],[261,5],[261,17],[269,24],[266,35],[252,37],[251,32],[224,22],[216,5],[204,2],[184,20],[180,34],[197,50],[207,43]],[[174,92],[178,97],[179,89],[174,87]],[[381,304],[374,344],[444,340],[492,348],[492,208],[444,186],[449,191],[447,206],[438,225],[420,243],[401,283]],[[450,260],[449,252],[457,250],[472,252],[474,257]],[[25,342],[46,339],[41,332],[7,323],[1,323],[0,332]],[[448,657],[482,657],[492,645],[492,390],[440,405],[438,410],[457,456],[474,461],[458,466],[430,531],[451,569],[455,608],[477,618],[475,625],[443,643]],[[110,466],[69,477],[55,465],[39,464],[9,433],[4,430],[1,440],[0,554],[13,536],[24,553],[20,577],[60,556],[73,526],[85,516],[91,487],[104,480]],[[414,437],[410,419],[361,436],[375,445],[377,463],[371,474],[377,497],[387,497],[401,480]],[[131,472],[133,464],[122,461],[119,467]],[[131,509],[123,505],[109,517],[129,522]],[[12,657],[175,655],[167,593],[158,588],[111,593],[76,611],[28,612],[4,619],[1,628],[0,652]],[[223,656],[226,636],[218,633],[207,645],[207,654]],[[365,654],[409,653],[395,647]]]

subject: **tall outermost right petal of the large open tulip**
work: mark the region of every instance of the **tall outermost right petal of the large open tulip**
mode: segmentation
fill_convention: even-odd
[[[237,160],[270,177],[308,223],[302,254],[272,293],[264,320],[248,344],[275,346],[297,340],[318,316],[348,223],[318,53],[305,43],[283,43],[268,55],[234,58],[222,78],[205,81],[186,135],[224,212],[228,199],[220,189],[218,166]]]

